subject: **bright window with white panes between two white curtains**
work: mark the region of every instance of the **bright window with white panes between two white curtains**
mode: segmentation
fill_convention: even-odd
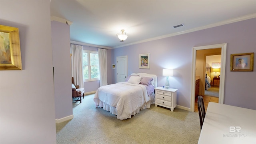
[[[99,80],[98,52],[83,50],[83,74],[84,81]]]

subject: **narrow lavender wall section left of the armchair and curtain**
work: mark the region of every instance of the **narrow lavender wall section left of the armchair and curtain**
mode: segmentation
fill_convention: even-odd
[[[52,59],[54,67],[55,118],[72,116],[70,29],[52,21]]]

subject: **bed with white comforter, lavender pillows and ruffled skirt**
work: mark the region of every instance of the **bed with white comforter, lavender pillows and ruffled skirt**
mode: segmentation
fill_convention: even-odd
[[[125,82],[98,88],[94,102],[96,107],[115,114],[120,120],[125,120],[154,104],[156,87],[156,75],[132,73]]]

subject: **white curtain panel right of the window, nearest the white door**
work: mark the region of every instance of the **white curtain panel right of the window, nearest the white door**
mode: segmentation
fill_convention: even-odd
[[[100,67],[100,86],[106,86],[107,79],[107,50],[98,48],[99,67]]]

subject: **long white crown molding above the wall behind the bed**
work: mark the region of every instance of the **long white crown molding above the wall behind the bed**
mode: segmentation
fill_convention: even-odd
[[[198,31],[198,30],[204,30],[204,29],[207,29],[207,28],[213,28],[213,27],[221,26],[221,25],[225,25],[225,24],[231,24],[233,22],[239,22],[239,21],[248,20],[248,19],[251,19],[251,18],[256,18],[256,13],[249,14],[249,15],[246,15],[246,16],[241,16],[241,17],[238,17],[238,18],[232,18],[232,19],[229,19],[229,20],[225,20],[225,21],[222,21],[222,22],[217,22],[217,23],[214,23],[214,24],[209,24],[209,25],[206,25],[206,26],[201,26],[201,27],[198,27],[198,28],[193,28],[193,29],[190,29],[190,30],[185,30],[185,31],[182,31],[182,32],[176,32],[176,33],[172,33],[172,34],[158,36],[158,37],[155,37],[155,38],[140,40],[138,42],[133,42],[133,43],[130,43],[130,44],[115,46],[113,48],[121,48],[121,47],[124,47],[124,46],[140,44],[142,42],[149,42],[149,41],[152,41],[152,40],[159,40],[159,39],[162,39],[162,38],[168,38],[168,37],[177,36],[177,35],[180,35],[180,34],[186,34],[186,33],[195,32],[195,31]]]

